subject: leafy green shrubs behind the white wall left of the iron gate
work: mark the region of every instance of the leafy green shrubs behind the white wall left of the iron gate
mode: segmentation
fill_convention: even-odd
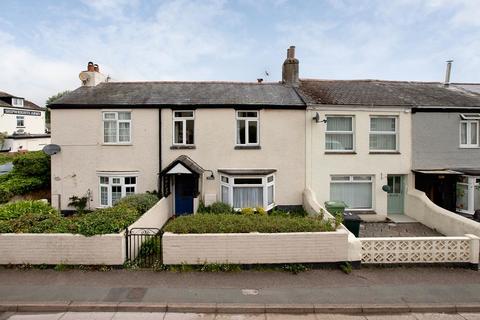
[[[118,233],[158,202],[153,194],[121,199],[111,208],[65,217],[43,201],[18,201],[0,206],[0,233],[73,233],[85,236]]]

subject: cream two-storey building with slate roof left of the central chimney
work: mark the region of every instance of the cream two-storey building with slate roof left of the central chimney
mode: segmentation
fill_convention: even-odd
[[[50,105],[52,204],[72,196],[111,206],[123,196],[172,194],[179,214],[200,200],[234,208],[301,206],[305,187],[305,103],[283,83],[108,82],[98,66],[82,86]]]

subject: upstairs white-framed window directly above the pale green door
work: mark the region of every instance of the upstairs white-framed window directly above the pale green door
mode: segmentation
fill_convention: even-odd
[[[370,151],[398,150],[397,117],[370,118]]]

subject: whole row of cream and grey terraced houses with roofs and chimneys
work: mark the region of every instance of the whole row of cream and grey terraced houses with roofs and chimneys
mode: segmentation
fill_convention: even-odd
[[[415,188],[453,211],[455,202],[469,212],[480,203],[472,191],[480,96],[465,88],[300,79],[294,47],[278,83],[109,82],[93,64],[80,79],[50,106],[61,148],[52,202],[62,209],[72,196],[104,207],[152,190],[172,194],[177,215],[200,201],[301,206],[306,190],[366,221],[418,212]],[[450,192],[438,196],[445,181]]]

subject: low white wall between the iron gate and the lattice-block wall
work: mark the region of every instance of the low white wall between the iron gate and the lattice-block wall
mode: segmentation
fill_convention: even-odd
[[[341,262],[348,260],[348,232],[166,232],[162,248],[164,264]]]

